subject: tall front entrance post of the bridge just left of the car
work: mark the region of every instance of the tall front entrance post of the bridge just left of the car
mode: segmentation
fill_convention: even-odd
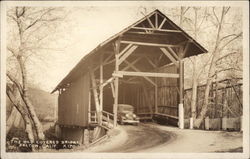
[[[115,72],[119,71],[119,50],[120,50],[120,38],[116,40],[115,42]],[[114,127],[117,126],[117,108],[118,108],[118,92],[119,92],[119,78],[116,76],[115,77],[115,99],[114,99],[114,107],[113,107],[113,112],[114,112]]]

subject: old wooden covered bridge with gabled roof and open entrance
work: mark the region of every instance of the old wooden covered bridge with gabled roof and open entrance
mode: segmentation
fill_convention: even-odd
[[[118,104],[141,118],[162,116],[183,128],[183,59],[207,52],[159,10],[98,45],[53,90],[58,123],[117,124]]]

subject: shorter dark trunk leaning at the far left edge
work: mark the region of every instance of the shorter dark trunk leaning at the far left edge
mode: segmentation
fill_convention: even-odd
[[[16,110],[21,114],[24,122],[25,122],[25,132],[27,133],[28,139],[30,142],[34,142],[34,134],[32,129],[32,123],[29,118],[25,107],[21,102],[20,93],[18,93],[17,88],[13,87],[13,89],[7,85],[6,93],[8,98],[10,99],[11,103],[14,105]]]

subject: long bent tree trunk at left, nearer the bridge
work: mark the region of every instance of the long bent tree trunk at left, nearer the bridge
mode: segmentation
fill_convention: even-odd
[[[37,134],[37,137],[39,140],[44,140],[45,136],[43,133],[43,127],[41,122],[39,121],[34,106],[32,105],[32,103],[30,102],[29,98],[28,98],[28,89],[27,89],[27,71],[26,71],[26,67],[24,65],[24,61],[21,58],[18,58],[18,63],[21,69],[21,75],[22,75],[22,84],[23,84],[23,94],[21,95],[27,110],[29,111],[31,120],[34,123],[34,127],[35,127],[35,131]]]

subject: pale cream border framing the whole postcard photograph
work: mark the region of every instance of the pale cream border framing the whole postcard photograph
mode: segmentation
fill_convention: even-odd
[[[6,153],[6,7],[8,6],[233,6],[243,9],[243,153]],[[248,1],[4,1],[1,2],[1,156],[3,158],[249,158],[249,2]]]

